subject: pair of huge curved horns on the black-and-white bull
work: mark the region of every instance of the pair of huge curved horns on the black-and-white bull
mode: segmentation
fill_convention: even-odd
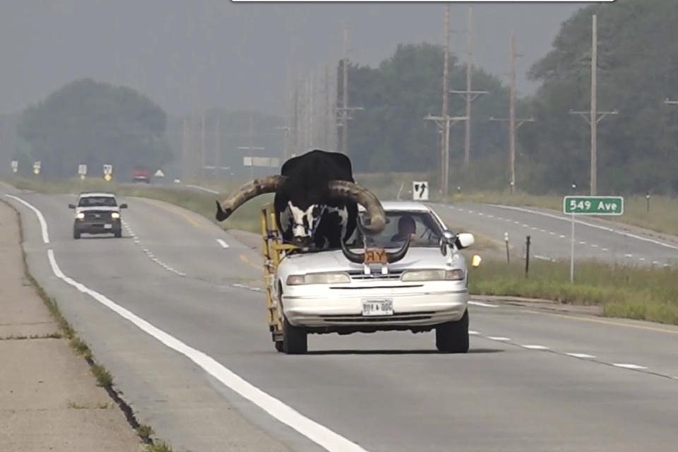
[[[239,208],[239,206],[242,206],[246,201],[249,201],[256,196],[267,193],[278,193],[285,182],[289,182],[288,177],[283,175],[272,175],[247,182],[227,198],[222,201],[217,201],[216,219],[218,221],[226,220],[237,208]],[[371,191],[354,182],[345,180],[331,180],[328,181],[327,184],[328,196],[333,198],[345,198],[347,201],[362,205],[365,210],[367,210],[367,218],[369,221],[366,222],[366,224],[362,225],[359,220],[356,220],[356,226],[359,227],[359,230],[361,230],[363,234],[379,234],[383,231],[384,227],[386,227],[386,213],[384,213],[379,199],[377,199]],[[289,202],[290,205],[295,205],[294,199],[290,199]],[[343,243],[343,239],[341,239],[340,242]],[[397,259],[399,260],[405,256],[405,251],[407,251],[408,246],[409,242],[406,243],[400,251],[389,254],[389,256],[391,256],[389,259],[399,256]]]

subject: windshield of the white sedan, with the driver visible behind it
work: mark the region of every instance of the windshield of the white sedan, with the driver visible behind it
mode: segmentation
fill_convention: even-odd
[[[361,218],[363,215],[360,214]],[[386,227],[381,233],[368,236],[367,243],[369,246],[397,248],[403,245],[407,234],[411,234],[410,246],[437,247],[442,230],[430,213],[389,210],[386,211]],[[362,247],[362,234],[357,231],[354,237],[349,246]]]

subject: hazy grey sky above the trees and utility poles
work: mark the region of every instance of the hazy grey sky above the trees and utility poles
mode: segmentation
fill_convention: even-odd
[[[530,92],[525,71],[581,6],[473,4],[477,64],[504,77],[515,28],[518,91]],[[451,8],[454,52],[465,49],[467,8]],[[441,43],[443,12],[442,4],[2,0],[0,113],[18,112],[83,77],[140,90],[172,115],[250,105],[279,113],[286,65],[338,59],[343,24],[351,60],[378,64],[399,42]]]

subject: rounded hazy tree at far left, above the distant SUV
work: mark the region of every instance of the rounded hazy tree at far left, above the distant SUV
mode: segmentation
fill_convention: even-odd
[[[95,176],[110,164],[114,178],[126,180],[135,165],[155,169],[171,159],[166,121],[162,108],[131,88],[73,81],[23,112],[23,169],[41,160],[44,176],[73,177],[83,163]]]

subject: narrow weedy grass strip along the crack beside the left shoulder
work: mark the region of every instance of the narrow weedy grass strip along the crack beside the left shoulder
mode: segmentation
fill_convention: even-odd
[[[40,283],[37,282],[37,280],[30,273],[30,270],[28,268],[28,261],[26,259],[26,253],[25,250],[23,249],[24,237],[21,213],[19,210],[14,208],[14,206],[12,206],[10,203],[7,203],[4,200],[2,200],[1,202],[5,203],[7,206],[9,206],[16,212],[19,230],[20,249],[23,263],[23,272],[25,274],[26,279],[30,281],[32,287],[35,289],[35,292],[37,293],[38,297],[42,299],[42,302],[44,303],[45,307],[47,307],[49,314],[51,314],[54,321],[56,321],[60,331],[59,338],[65,338],[69,340],[69,345],[73,349],[73,352],[83,357],[83,359],[85,359],[85,361],[89,364],[90,370],[92,371],[92,375],[97,381],[97,386],[101,386],[102,388],[105,389],[105,391],[108,393],[110,398],[112,398],[114,403],[122,410],[126,417],[127,422],[129,422],[131,427],[136,430],[139,438],[145,445],[143,451],[172,452],[172,448],[169,445],[167,445],[164,441],[153,439],[150,436],[151,434],[153,434],[153,429],[151,427],[149,427],[148,425],[138,423],[131,407],[124,400],[122,400],[117,391],[115,391],[113,387],[114,384],[113,377],[110,374],[110,372],[104,366],[102,366],[102,364],[98,364],[96,362],[89,345],[87,345],[85,341],[78,337],[76,331],[73,330],[73,327],[71,327],[69,322],[64,318],[63,314],[61,314],[61,310],[59,309],[57,301],[54,298],[49,297],[49,295],[47,295],[47,292],[45,292],[44,288],[40,285]]]

